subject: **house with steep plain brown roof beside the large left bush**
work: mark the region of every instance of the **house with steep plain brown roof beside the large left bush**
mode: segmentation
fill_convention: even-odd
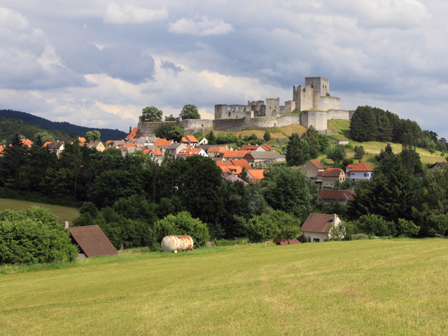
[[[104,235],[98,225],[80,226],[68,228],[71,240],[79,246],[80,254],[78,258],[92,258],[97,255],[118,254],[111,241]]]

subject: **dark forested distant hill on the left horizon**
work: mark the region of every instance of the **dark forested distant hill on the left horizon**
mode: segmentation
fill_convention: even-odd
[[[83,137],[86,132],[97,130],[101,133],[102,141],[125,139],[125,137],[127,136],[126,132],[120,130],[111,130],[109,128],[84,127],[73,125],[71,123],[66,122],[61,123],[56,121],[50,121],[38,116],[33,116],[32,114],[29,113],[13,110],[0,110],[0,118],[6,118],[6,119],[12,118],[16,120],[23,120],[26,123],[29,123],[31,125],[38,125],[46,130],[68,132],[76,134],[80,137]]]

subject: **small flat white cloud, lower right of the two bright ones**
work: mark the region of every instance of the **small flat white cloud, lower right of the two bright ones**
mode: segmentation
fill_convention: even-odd
[[[182,18],[174,23],[170,23],[168,31],[179,34],[207,36],[224,35],[235,31],[235,29],[233,29],[230,23],[225,23],[221,19],[209,20],[207,15],[204,15],[201,20],[187,20],[186,18]]]

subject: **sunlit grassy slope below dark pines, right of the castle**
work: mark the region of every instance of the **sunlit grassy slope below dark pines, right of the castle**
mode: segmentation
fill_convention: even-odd
[[[367,142],[358,142],[353,141],[349,137],[349,129],[350,129],[350,122],[348,120],[328,120],[328,130],[337,131],[336,133],[333,133],[330,135],[330,138],[336,139],[336,140],[348,140],[349,144],[354,146],[364,146],[366,155],[363,158],[364,162],[371,162],[372,158],[374,158],[374,155],[379,154],[381,149],[384,149],[386,147],[386,142],[379,142],[379,141],[367,141]],[[401,152],[401,144],[391,144],[393,152],[394,153],[400,153]],[[416,148],[417,153],[420,155],[421,163],[423,166],[425,166],[427,163],[435,163],[437,161],[444,161],[444,158],[440,156],[440,152],[436,151],[434,154],[431,154],[430,152],[426,151],[426,149],[423,148]],[[349,151],[347,153],[347,158],[353,158],[353,152]],[[321,158],[319,158],[320,160]]]

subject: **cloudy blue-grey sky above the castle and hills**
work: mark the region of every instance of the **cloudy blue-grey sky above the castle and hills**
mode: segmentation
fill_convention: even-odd
[[[448,139],[448,1],[0,3],[0,109],[127,131],[141,110],[293,99],[330,79],[341,108],[374,106]]]

